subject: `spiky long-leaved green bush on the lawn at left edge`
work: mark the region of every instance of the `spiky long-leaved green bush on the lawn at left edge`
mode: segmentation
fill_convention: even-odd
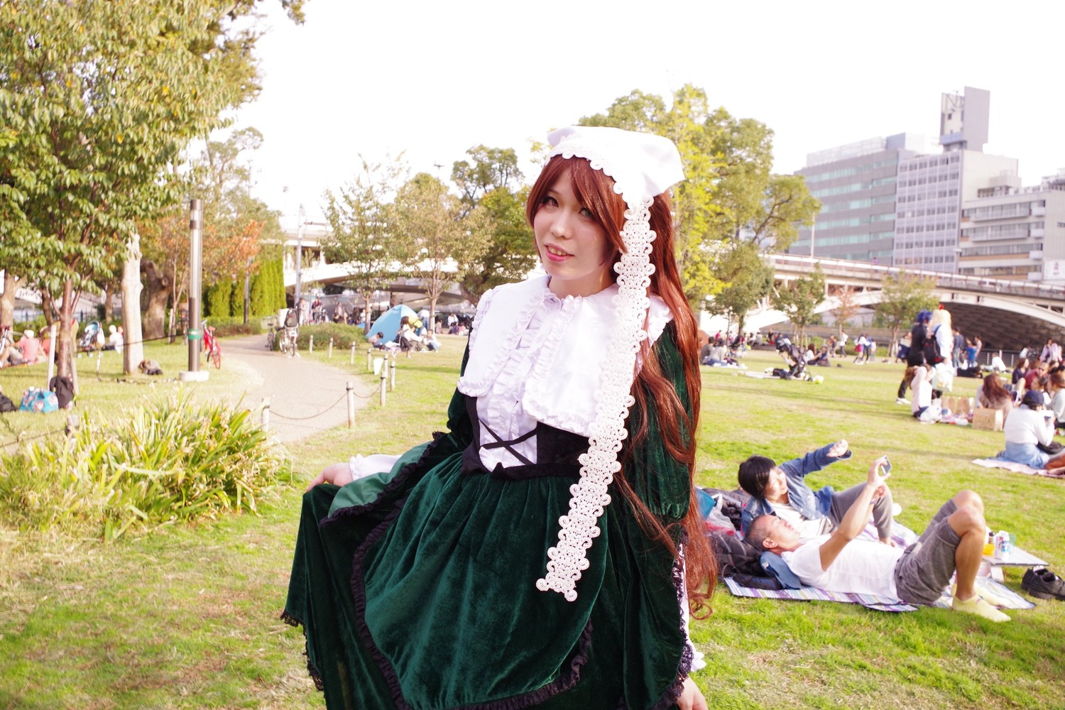
[[[0,510],[20,528],[113,541],[220,512],[256,512],[282,457],[248,410],[174,395],[120,420],[86,412],[69,439],[0,457]]]

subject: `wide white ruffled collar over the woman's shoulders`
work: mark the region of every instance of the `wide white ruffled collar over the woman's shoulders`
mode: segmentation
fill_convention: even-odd
[[[595,392],[602,386],[607,344],[617,327],[613,297],[617,284],[590,296],[559,298],[547,287],[547,277],[505,284],[485,294],[470,335],[470,359],[459,379],[459,392],[485,396],[517,349],[535,311],[559,302],[559,314],[522,395],[522,407],[538,422],[591,436]],[[653,344],[673,318],[669,307],[652,296],[648,336]]]

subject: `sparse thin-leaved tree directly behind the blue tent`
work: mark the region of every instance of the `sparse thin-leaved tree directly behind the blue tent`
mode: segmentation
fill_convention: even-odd
[[[350,285],[362,296],[366,313],[375,291],[388,286],[402,253],[393,241],[396,215],[393,199],[407,174],[403,155],[368,163],[360,155],[362,169],[339,193],[326,192],[329,235],[322,246],[326,258],[347,265]],[[365,319],[370,332],[370,318]]]

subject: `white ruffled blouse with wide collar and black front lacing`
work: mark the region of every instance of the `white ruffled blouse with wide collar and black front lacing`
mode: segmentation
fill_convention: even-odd
[[[498,286],[478,304],[470,360],[458,389],[477,397],[481,447],[498,441],[491,432],[513,441],[535,429],[537,422],[591,435],[618,286],[559,298],[547,283],[547,277],[540,277]],[[672,317],[666,303],[653,296],[648,314],[651,343]],[[536,436],[511,448],[536,462]],[[480,460],[490,470],[497,463],[524,463],[502,447],[481,448]]]

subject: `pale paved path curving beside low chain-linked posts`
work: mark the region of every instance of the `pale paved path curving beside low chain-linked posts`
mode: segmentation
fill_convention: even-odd
[[[309,358],[286,358],[265,346],[266,335],[227,337],[222,341],[223,367],[236,360],[256,373],[244,402],[258,407],[263,397],[269,397],[269,429],[278,441],[294,442],[347,424],[348,381],[355,383],[356,410],[365,407],[374,394],[350,373]],[[346,365],[349,354],[334,351],[333,358]]]

